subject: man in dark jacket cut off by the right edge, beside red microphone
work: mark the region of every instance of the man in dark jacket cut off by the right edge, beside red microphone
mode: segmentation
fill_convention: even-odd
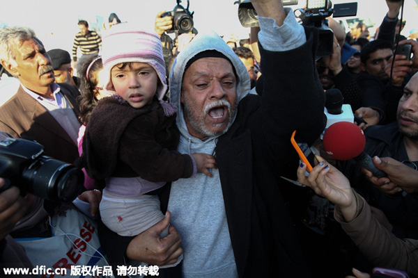
[[[417,170],[418,163],[418,74],[405,86],[398,104],[397,122],[366,129],[364,152],[370,156],[391,157]],[[359,166],[348,163],[345,174],[354,188],[368,198],[369,204],[380,208],[399,238],[418,238],[418,195],[406,193],[385,178],[369,178]],[[370,174],[370,172],[368,172]]]

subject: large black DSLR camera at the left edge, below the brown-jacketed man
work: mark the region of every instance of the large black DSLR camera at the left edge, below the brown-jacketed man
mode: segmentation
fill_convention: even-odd
[[[33,193],[58,202],[72,201],[81,193],[84,174],[75,166],[42,156],[37,142],[6,138],[0,141],[0,177],[6,184],[0,192],[14,185],[22,193]]]

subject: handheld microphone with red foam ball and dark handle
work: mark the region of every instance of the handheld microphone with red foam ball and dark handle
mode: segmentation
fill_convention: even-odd
[[[362,129],[352,122],[336,122],[324,133],[323,146],[325,152],[339,161],[348,161],[354,158],[357,163],[373,173],[375,177],[387,177],[379,170],[373,160],[363,152],[366,138]]]

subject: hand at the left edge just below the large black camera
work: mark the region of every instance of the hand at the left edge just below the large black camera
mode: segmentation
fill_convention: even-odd
[[[4,185],[4,179],[0,178],[0,187]],[[12,231],[17,221],[27,212],[26,201],[20,196],[20,190],[16,186],[0,193],[0,240]]]

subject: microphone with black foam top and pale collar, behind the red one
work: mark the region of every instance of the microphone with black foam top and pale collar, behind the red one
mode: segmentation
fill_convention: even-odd
[[[354,114],[351,110],[350,104],[343,104],[343,94],[339,89],[332,88],[325,91],[325,115],[327,116],[327,125],[321,134],[320,138],[324,136],[324,132],[332,124],[336,122],[354,122]]]

